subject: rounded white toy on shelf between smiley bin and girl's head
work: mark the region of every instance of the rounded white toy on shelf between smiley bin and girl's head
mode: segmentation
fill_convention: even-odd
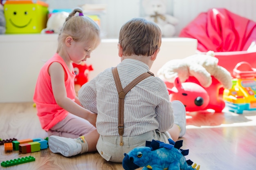
[[[68,15],[69,13],[64,11],[52,14],[47,20],[46,28],[43,29],[41,33],[46,33],[47,31],[54,31],[54,33],[58,33]]]

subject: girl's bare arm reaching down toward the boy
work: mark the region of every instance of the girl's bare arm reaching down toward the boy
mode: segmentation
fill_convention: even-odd
[[[53,62],[49,66],[48,72],[51,77],[52,91],[56,103],[69,113],[87,119],[93,126],[96,126],[97,114],[90,112],[67,97],[63,66],[58,62]]]

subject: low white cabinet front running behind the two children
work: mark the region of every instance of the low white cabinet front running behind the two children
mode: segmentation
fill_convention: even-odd
[[[104,69],[120,62],[117,39],[103,39],[91,58],[94,71],[90,79]],[[150,71],[157,70],[168,60],[195,53],[197,40],[189,38],[163,39],[161,50]],[[32,102],[40,68],[56,52],[56,34],[0,35],[0,102]]]

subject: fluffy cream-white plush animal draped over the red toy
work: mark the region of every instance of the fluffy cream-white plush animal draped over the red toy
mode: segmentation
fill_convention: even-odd
[[[206,55],[195,54],[184,59],[175,59],[166,62],[157,72],[158,77],[173,83],[175,76],[185,82],[189,76],[194,76],[200,84],[207,88],[211,85],[211,76],[215,77],[224,88],[232,87],[232,77],[227,69],[218,66],[218,58],[214,57],[213,51],[208,51]]]

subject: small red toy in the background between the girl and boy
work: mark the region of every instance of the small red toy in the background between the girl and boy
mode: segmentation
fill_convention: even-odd
[[[89,73],[93,70],[93,68],[92,65],[87,65],[85,62],[82,62],[81,64],[73,63],[73,67],[76,74],[74,86],[77,95],[81,86],[88,82]]]

